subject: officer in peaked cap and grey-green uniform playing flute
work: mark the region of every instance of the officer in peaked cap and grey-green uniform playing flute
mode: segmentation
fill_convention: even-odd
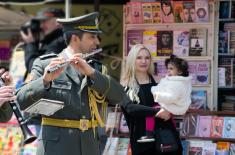
[[[42,128],[37,154],[39,155],[98,155],[97,127],[104,126],[98,106],[116,104],[123,100],[122,86],[110,76],[91,67],[83,54],[99,45],[98,13],[58,19],[63,25],[67,43],[58,56],[44,55],[35,60],[32,80],[17,93],[21,109],[41,98],[63,101],[63,109],[51,116],[42,116]],[[69,65],[48,72],[58,64]],[[100,63],[92,65],[102,68]]]

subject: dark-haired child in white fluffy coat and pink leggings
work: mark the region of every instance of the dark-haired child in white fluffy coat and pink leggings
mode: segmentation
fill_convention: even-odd
[[[191,104],[192,78],[189,76],[188,64],[185,60],[171,55],[166,59],[165,66],[168,75],[151,88],[154,101],[174,115],[183,115]],[[154,123],[154,118],[146,118],[147,136],[141,137],[138,142],[153,141]]]

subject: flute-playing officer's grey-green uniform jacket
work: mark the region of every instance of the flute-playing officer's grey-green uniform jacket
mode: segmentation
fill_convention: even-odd
[[[63,101],[65,107],[51,118],[91,120],[88,103],[88,86],[104,94],[108,103],[120,103],[124,97],[122,86],[108,75],[95,71],[94,79],[79,76],[69,65],[62,74],[52,81],[50,89],[43,85],[43,72],[53,56],[41,56],[36,59],[31,75],[33,80],[24,85],[17,93],[21,109],[25,109],[41,98]],[[39,155],[98,155],[99,137],[94,137],[93,129],[82,132],[80,129],[42,126],[37,154]]]

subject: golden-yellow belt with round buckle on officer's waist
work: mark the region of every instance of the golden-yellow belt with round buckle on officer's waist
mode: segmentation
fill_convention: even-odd
[[[77,128],[82,131],[86,131],[89,128],[97,127],[98,122],[96,120],[91,121],[88,119],[80,119],[79,121],[77,121],[77,120],[42,117],[42,125],[56,126],[62,128]]]

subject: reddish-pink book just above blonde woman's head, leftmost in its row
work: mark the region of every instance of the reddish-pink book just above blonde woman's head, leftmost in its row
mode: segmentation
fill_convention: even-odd
[[[133,45],[142,44],[142,43],[143,43],[143,30],[128,30],[126,55],[128,55]]]

